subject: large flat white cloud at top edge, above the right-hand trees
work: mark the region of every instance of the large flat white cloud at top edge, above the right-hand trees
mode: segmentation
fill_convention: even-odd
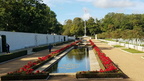
[[[94,5],[100,8],[125,8],[134,6],[130,0],[96,0]]]

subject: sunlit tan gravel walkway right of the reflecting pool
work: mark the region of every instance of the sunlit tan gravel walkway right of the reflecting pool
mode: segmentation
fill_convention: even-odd
[[[92,40],[130,78],[130,81],[144,81],[144,54],[130,54],[120,48]]]

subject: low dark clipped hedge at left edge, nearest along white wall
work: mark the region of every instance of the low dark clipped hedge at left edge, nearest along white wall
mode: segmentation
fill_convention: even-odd
[[[0,55],[0,62],[8,61],[24,55],[27,55],[27,50],[15,52],[15,53],[3,54]]]

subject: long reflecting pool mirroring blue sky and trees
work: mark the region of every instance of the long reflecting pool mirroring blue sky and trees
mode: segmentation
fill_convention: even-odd
[[[47,71],[50,73],[75,73],[88,70],[90,70],[90,65],[87,48],[77,48],[71,50]]]

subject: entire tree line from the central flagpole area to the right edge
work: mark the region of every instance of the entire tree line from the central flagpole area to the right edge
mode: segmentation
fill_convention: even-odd
[[[87,35],[98,34],[99,38],[144,38],[144,14],[108,13],[98,20],[90,17],[87,21],[81,18],[67,20],[63,34],[84,35],[86,23]]]

